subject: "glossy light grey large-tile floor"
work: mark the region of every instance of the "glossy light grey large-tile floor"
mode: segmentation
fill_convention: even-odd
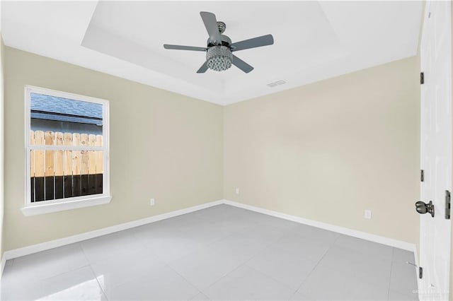
[[[417,300],[413,253],[219,205],[6,262],[1,300]]]

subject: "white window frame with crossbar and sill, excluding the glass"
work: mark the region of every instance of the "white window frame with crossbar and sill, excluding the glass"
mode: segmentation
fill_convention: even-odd
[[[51,95],[58,98],[67,98],[70,100],[80,100],[84,102],[94,102],[103,105],[103,146],[81,146],[81,150],[86,148],[94,151],[103,151],[103,193],[91,194],[88,196],[73,196],[65,199],[56,199],[48,201],[31,202],[31,184],[30,184],[30,96],[31,93]],[[105,203],[110,203],[110,172],[109,172],[109,105],[108,100],[101,98],[92,98],[74,93],[66,93],[57,90],[25,85],[25,206],[21,208],[23,215],[34,216],[37,214],[70,210],[88,206],[96,206]],[[41,147],[40,147],[41,148]],[[64,146],[42,146],[42,149],[64,148]],[[71,149],[74,150],[74,146]],[[34,147],[36,149],[36,147]]]

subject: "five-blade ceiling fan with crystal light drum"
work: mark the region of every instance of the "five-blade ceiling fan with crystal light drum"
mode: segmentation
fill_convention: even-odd
[[[226,29],[223,22],[217,22],[214,13],[201,11],[200,16],[205,23],[209,38],[207,39],[207,47],[193,47],[182,45],[168,45],[164,44],[165,49],[178,49],[178,50],[193,50],[206,52],[205,64],[202,64],[197,73],[205,73],[207,69],[214,71],[224,71],[231,67],[231,64],[238,67],[245,73],[253,70],[253,67],[247,64],[239,57],[236,57],[232,52],[243,49],[250,49],[274,44],[272,35],[263,35],[260,37],[253,37],[252,39],[243,40],[241,42],[231,43],[231,39],[226,35],[222,35]]]

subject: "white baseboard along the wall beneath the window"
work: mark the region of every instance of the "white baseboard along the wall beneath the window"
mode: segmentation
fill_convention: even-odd
[[[165,220],[166,218],[173,218],[175,216],[180,216],[185,213],[190,213],[193,211],[198,211],[201,209],[220,205],[222,203],[224,203],[223,200],[212,201],[210,203],[203,203],[201,205],[184,208],[184,209],[180,209],[177,211],[171,211],[171,212],[164,213],[164,214],[159,214],[159,216],[150,216],[149,218],[142,218],[141,220],[133,220],[132,222],[122,223],[120,225],[114,225],[114,226],[111,226],[108,228],[102,228],[99,230],[85,232],[85,233],[81,233],[81,234],[77,234],[77,235],[72,235],[69,237],[60,238],[59,240],[51,240],[50,242],[42,242],[40,244],[32,244],[27,247],[12,249],[12,250],[4,252],[3,258],[1,259],[2,264],[4,261],[6,262],[6,260],[8,260],[8,259],[14,259],[14,258],[17,258],[20,256],[25,256],[25,255],[45,251],[48,249],[53,249],[55,247],[62,247],[66,244],[73,244],[74,242],[81,242],[83,240],[89,240],[94,237],[108,235],[113,232],[127,230],[127,229],[138,227],[141,225],[146,225],[148,223],[154,223],[158,220]],[[1,266],[1,273],[3,273],[3,268],[4,268],[4,265]]]

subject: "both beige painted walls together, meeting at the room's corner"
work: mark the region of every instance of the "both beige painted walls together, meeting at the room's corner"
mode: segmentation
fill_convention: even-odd
[[[6,250],[222,198],[418,242],[415,57],[223,109],[9,47],[6,76]],[[22,215],[24,85],[110,100],[112,203]]]

